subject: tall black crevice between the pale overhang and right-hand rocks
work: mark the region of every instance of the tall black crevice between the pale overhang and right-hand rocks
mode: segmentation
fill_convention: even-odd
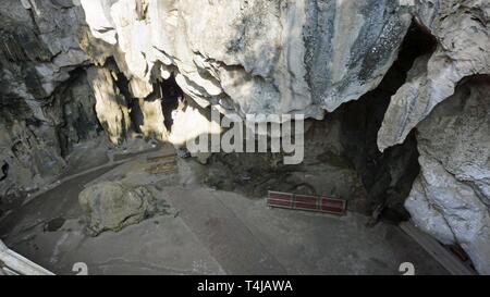
[[[431,53],[436,46],[434,37],[414,21],[397,60],[380,85],[359,100],[345,103],[328,115],[341,117],[344,153],[353,162],[367,190],[371,224],[378,220],[400,222],[409,219],[404,202],[420,171],[415,132],[404,144],[384,152],[380,152],[377,146],[378,132],[391,97],[406,82],[415,60]]]

